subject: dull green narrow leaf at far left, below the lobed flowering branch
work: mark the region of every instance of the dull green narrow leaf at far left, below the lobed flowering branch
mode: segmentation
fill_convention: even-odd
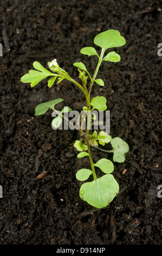
[[[61,101],[63,101],[63,99],[55,99],[37,105],[35,108],[35,115],[42,115],[46,113],[49,108],[55,110],[55,105],[60,103]]]

